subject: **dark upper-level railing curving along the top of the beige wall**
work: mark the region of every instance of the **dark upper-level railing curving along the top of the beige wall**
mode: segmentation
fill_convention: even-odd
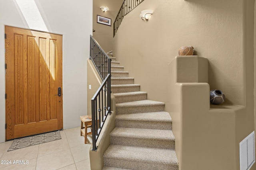
[[[116,16],[116,20],[114,21],[114,32],[113,35],[116,35],[116,32],[124,18],[124,16],[126,16],[126,14],[128,14],[131,10],[133,10],[136,6],[138,6],[141,2],[143,2],[144,0],[124,0],[117,16]]]

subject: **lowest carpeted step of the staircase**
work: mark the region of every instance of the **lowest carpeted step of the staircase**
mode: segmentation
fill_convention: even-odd
[[[108,165],[107,159],[109,159],[109,163],[120,164],[120,162],[132,161],[134,164],[126,164],[126,166],[139,166],[141,163],[151,164],[163,164],[170,166],[175,166],[172,168],[176,170],[178,166],[178,159],[173,149],[157,149],[157,148],[146,148],[146,147],[131,147],[131,146],[123,146],[123,145],[110,145],[108,149],[104,152],[103,158],[106,160],[105,166]],[[124,167],[121,167],[124,168]],[[129,168],[129,167],[127,167]]]

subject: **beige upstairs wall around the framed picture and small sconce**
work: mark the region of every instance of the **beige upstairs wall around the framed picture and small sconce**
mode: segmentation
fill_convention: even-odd
[[[123,0],[93,0],[93,37],[107,53],[112,51],[113,23]],[[102,12],[100,6],[107,6],[108,12]],[[97,23],[97,15],[111,19],[111,26]]]

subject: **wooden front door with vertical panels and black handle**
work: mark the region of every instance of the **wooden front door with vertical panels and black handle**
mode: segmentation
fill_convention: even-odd
[[[6,140],[62,129],[62,35],[5,31]]]

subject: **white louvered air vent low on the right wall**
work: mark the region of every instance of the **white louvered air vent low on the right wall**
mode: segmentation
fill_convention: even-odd
[[[240,170],[249,170],[255,162],[254,131],[240,142]]]

